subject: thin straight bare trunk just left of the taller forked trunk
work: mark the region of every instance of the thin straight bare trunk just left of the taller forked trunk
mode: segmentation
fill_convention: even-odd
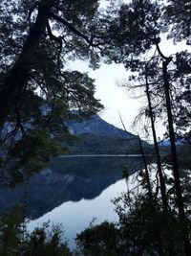
[[[158,172],[159,172],[159,184],[160,184],[162,206],[163,206],[163,210],[167,211],[168,202],[167,202],[167,198],[166,198],[166,186],[165,186],[164,178],[162,175],[161,160],[160,160],[160,155],[159,155],[159,147],[158,147],[158,141],[157,141],[157,134],[156,134],[155,121],[154,121],[154,116],[153,116],[153,108],[152,108],[152,103],[151,103],[147,74],[146,74],[146,96],[147,96],[147,101],[148,101],[148,106],[149,106],[149,116],[150,116],[150,120],[151,120],[151,128],[152,128],[152,133],[153,133],[154,147],[155,147],[157,166],[158,166]]]

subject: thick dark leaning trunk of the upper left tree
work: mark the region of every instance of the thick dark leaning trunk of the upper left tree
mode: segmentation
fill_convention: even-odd
[[[19,100],[20,93],[27,85],[32,68],[32,55],[45,32],[49,12],[53,5],[52,2],[41,1],[39,3],[36,21],[32,25],[20,56],[11,67],[0,91],[0,130],[3,128],[11,111],[14,110],[14,105]]]

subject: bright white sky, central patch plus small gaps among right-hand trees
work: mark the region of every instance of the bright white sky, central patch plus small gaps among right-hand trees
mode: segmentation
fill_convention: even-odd
[[[191,52],[191,47],[185,43],[181,42],[174,45],[172,41],[164,39],[164,36],[159,46],[166,56],[182,50]],[[154,52],[154,49],[152,51]],[[118,115],[119,111],[126,129],[134,134],[140,134],[144,138],[143,132],[139,128],[133,128],[132,124],[140,107],[146,105],[146,101],[144,99],[133,99],[133,95],[130,95],[127,89],[117,85],[123,80],[128,80],[128,72],[122,64],[101,64],[100,68],[92,70],[89,68],[88,62],[77,60],[68,64],[68,68],[88,72],[89,76],[96,80],[96,99],[100,99],[105,107],[104,110],[98,113],[101,118],[117,128],[122,128]],[[164,128],[159,123],[158,135],[160,138],[163,131]]]

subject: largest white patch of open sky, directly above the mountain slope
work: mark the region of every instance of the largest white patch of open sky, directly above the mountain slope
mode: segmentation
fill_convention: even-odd
[[[75,61],[70,68],[88,72],[89,76],[96,80],[96,99],[100,99],[104,105],[104,110],[98,113],[100,117],[122,128],[119,122],[119,110],[122,117],[126,117],[124,121],[129,128],[137,113],[138,103],[130,99],[123,88],[117,86],[117,81],[127,78],[127,71],[123,65],[101,64],[99,69],[92,70],[88,67],[88,63]]]

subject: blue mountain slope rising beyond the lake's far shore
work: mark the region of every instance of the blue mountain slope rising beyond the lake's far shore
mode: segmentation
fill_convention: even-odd
[[[71,132],[80,138],[74,144],[72,153],[139,153],[138,137],[121,128],[108,124],[99,116],[94,115],[83,122],[68,122]],[[145,149],[150,145],[142,141]]]

